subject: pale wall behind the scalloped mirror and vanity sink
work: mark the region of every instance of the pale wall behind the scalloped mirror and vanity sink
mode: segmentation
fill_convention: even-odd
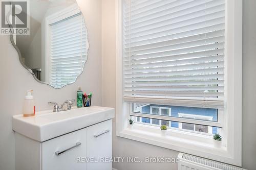
[[[49,101],[76,99],[78,86],[92,92],[93,105],[101,105],[101,0],[77,0],[89,32],[89,58],[77,82],[54,89],[40,84],[19,63],[9,36],[0,36],[0,169],[14,170],[14,132],[11,116],[22,113],[27,89],[34,90],[36,110],[52,109]]]

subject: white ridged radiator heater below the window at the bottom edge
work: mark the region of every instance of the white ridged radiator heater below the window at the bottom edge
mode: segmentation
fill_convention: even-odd
[[[178,158],[178,170],[246,170],[184,153],[179,153]]]

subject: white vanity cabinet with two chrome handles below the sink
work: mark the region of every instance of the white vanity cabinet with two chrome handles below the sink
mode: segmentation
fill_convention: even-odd
[[[112,119],[44,142],[15,133],[15,147],[19,170],[111,170]]]

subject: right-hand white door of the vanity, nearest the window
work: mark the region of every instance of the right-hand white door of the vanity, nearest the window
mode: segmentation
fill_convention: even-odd
[[[112,169],[112,120],[87,128],[87,156],[97,161],[88,162],[88,170]]]

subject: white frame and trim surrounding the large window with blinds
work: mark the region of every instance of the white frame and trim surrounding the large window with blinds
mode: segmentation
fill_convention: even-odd
[[[159,127],[141,124],[134,125],[132,130],[127,129],[127,118],[130,117],[132,108],[128,102],[124,102],[122,95],[122,0],[116,0],[117,136],[237,166],[242,165],[242,5],[242,0],[226,0],[224,99],[227,103],[223,110],[222,128],[226,140],[223,141],[222,148],[215,148],[212,136],[168,129],[168,135],[162,137]]]

